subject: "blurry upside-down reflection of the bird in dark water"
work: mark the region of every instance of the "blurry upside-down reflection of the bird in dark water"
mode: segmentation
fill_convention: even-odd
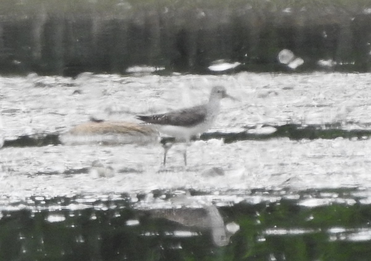
[[[199,209],[153,209],[150,210],[153,218],[165,218],[184,226],[211,230],[213,242],[217,246],[226,246],[230,237],[239,230],[236,223],[224,225],[219,210],[214,205],[206,205]],[[230,224],[233,224],[232,226]],[[232,227],[232,229],[230,229]]]

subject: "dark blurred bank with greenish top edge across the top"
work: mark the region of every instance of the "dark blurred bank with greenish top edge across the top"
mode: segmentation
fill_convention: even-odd
[[[207,73],[210,62],[236,70],[370,69],[370,1],[1,1],[0,73],[125,73],[132,65]],[[334,68],[332,68],[334,69]]]

